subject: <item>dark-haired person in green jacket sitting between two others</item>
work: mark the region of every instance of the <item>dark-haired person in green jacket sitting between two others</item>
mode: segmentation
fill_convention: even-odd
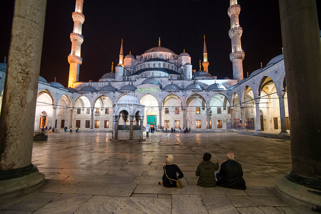
[[[200,163],[195,172],[196,176],[199,176],[197,185],[203,187],[213,187],[216,185],[215,171],[219,169],[219,160],[216,159],[214,164],[211,161],[212,155],[210,153],[204,153],[203,162]]]

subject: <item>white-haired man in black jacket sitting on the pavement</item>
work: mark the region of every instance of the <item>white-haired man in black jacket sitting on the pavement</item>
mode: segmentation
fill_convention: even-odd
[[[243,179],[241,164],[234,160],[233,153],[226,154],[227,161],[221,164],[219,173],[216,173],[217,186],[245,190],[246,185]]]

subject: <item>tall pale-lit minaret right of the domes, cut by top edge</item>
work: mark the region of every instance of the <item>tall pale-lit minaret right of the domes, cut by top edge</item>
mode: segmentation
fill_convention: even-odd
[[[230,7],[227,11],[231,18],[231,29],[229,30],[229,36],[232,40],[232,53],[230,53],[230,60],[233,64],[233,79],[243,79],[243,59],[245,56],[241,47],[242,28],[239,26],[239,13],[241,7],[237,0],[230,0]]]

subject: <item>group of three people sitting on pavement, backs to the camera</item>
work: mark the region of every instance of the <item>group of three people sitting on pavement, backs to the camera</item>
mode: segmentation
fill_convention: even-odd
[[[245,190],[246,184],[243,179],[243,170],[241,164],[234,160],[233,153],[226,154],[226,161],[221,164],[221,169],[215,174],[215,171],[219,169],[219,160],[212,162],[212,155],[210,153],[204,153],[203,162],[201,162],[196,171],[195,175],[198,178],[197,185],[203,187],[214,187],[215,185],[231,188]],[[178,180],[184,177],[184,174],[179,169],[179,167],[173,162],[174,157],[172,155],[167,155],[165,160],[165,166],[163,167],[164,175],[162,177],[162,184],[165,187],[175,187],[176,182],[173,180]],[[177,176],[178,174],[178,176]]]

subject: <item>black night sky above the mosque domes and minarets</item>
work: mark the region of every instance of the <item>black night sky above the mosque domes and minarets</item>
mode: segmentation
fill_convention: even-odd
[[[203,34],[205,34],[209,61],[209,73],[222,79],[233,78],[229,59],[231,40],[229,0],[192,1],[88,1],[84,0],[82,25],[84,42],[79,81],[98,81],[111,71],[111,62],[117,65],[121,39],[124,38],[124,55],[143,54],[147,49],[167,47],[180,54],[191,56],[193,69],[199,70],[203,61]],[[13,19],[13,1],[3,1],[0,13],[0,62],[8,56]],[[276,0],[239,0],[239,23],[244,77],[265,66],[274,56],[282,53],[279,4]],[[56,81],[65,87],[68,83],[71,51],[71,17],[75,0],[48,0],[43,39],[40,75],[48,82]],[[320,18],[320,17],[319,17]],[[203,67],[202,67],[203,69]]]

